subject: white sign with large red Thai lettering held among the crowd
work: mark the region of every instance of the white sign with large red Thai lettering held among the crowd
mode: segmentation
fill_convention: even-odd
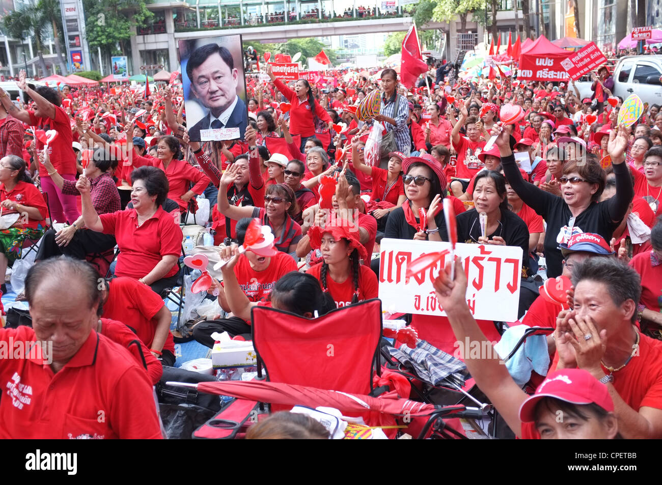
[[[444,316],[432,283],[450,259],[447,242],[383,239],[379,267],[379,298],[387,312]],[[434,266],[406,278],[407,265],[423,254],[448,251]],[[522,248],[516,246],[455,245],[467,275],[467,304],[481,320],[514,322],[520,301]]]

